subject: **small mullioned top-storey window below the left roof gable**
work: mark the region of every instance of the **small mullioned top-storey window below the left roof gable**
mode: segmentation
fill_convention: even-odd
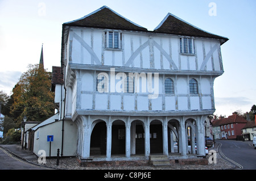
[[[122,33],[118,31],[105,32],[105,48],[121,49]]]

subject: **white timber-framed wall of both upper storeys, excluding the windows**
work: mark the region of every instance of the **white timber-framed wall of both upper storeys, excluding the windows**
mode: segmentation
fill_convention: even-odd
[[[104,32],[96,28],[70,29],[66,45],[66,115],[72,116],[76,109],[135,112],[214,110],[213,81],[223,71],[220,41],[193,37],[195,54],[187,55],[179,50],[181,36],[122,31],[122,49],[109,50],[104,47]],[[69,69],[72,65],[79,66]],[[88,69],[86,65],[96,67]],[[100,71],[102,65],[105,69]],[[147,89],[147,92],[137,94],[110,92],[110,66],[115,66],[115,75],[125,72],[126,69],[118,70],[122,67],[138,68],[133,73],[145,72],[148,75],[151,70],[159,73],[157,98],[149,99],[151,93]],[[96,78],[101,72],[109,76],[109,89],[104,93],[96,91]],[[128,71],[125,73],[128,75]],[[164,92],[164,79],[167,77],[174,81],[175,94]],[[198,82],[197,95],[189,94],[191,78]],[[115,80],[115,86],[118,81]]]

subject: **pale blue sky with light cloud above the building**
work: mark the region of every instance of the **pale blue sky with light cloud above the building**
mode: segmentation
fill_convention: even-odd
[[[216,16],[210,16],[210,2]],[[168,12],[205,31],[229,38],[221,46],[225,73],[214,82],[218,116],[250,111],[256,104],[256,1],[44,1],[0,0],[0,90],[10,91],[28,64],[38,64],[42,43],[44,66],[60,66],[61,27],[102,6],[118,12],[148,30],[154,30]]]

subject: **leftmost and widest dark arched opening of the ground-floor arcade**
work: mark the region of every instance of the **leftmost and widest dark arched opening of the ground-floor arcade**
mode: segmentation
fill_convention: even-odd
[[[90,155],[106,155],[106,123],[102,120],[93,123],[95,125],[90,136]]]

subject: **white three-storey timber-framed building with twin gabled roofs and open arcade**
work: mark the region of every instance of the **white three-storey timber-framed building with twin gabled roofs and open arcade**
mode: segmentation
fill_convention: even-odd
[[[173,135],[185,156],[188,125],[205,155],[204,121],[215,111],[226,41],[170,13],[154,31],[106,6],[64,23],[62,113],[77,124],[77,156],[169,155]]]

